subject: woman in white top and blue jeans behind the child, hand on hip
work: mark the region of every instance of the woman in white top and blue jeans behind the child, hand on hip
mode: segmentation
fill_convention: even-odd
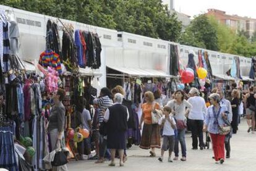
[[[186,115],[189,114],[189,109],[192,107],[189,102],[186,101],[184,91],[177,90],[174,93],[175,99],[171,100],[166,104],[166,106],[171,107],[173,109],[174,119],[176,120],[177,126],[177,136],[175,138],[174,145],[174,161],[177,161],[179,157],[179,143],[181,143],[181,153],[182,158],[181,161],[186,161],[187,153],[186,153],[186,141],[185,141],[185,131],[187,128],[186,123]]]

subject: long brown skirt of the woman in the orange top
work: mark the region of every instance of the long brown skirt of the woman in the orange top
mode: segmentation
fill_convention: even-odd
[[[160,126],[158,124],[145,124],[142,130],[142,140],[140,142],[140,148],[161,148],[160,141]]]

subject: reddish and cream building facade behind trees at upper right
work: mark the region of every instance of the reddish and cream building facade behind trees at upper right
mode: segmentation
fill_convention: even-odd
[[[238,15],[228,15],[225,11],[218,9],[208,9],[207,15],[214,16],[221,23],[228,25],[233,30],[247,31],[250,36],[256,31],[256,19],[240,17]]]

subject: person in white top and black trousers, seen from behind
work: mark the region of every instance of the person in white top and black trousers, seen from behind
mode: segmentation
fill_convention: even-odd
[[[200,93],[196,88],[191,88],[189,91],[190,98],[188,102],[192,105],[189,112],[190,126],[192,128],[192,149],[199,147],[203,149],[203,119],[207,107],[205,106],[205,99],[200,97]]]

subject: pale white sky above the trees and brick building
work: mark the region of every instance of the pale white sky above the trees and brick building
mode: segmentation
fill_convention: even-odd
[[[224,10],[229,15],[237,14],[256,19],[255,0],[174,0],[174,9],[191,17],[207,12],[210,8]]]

